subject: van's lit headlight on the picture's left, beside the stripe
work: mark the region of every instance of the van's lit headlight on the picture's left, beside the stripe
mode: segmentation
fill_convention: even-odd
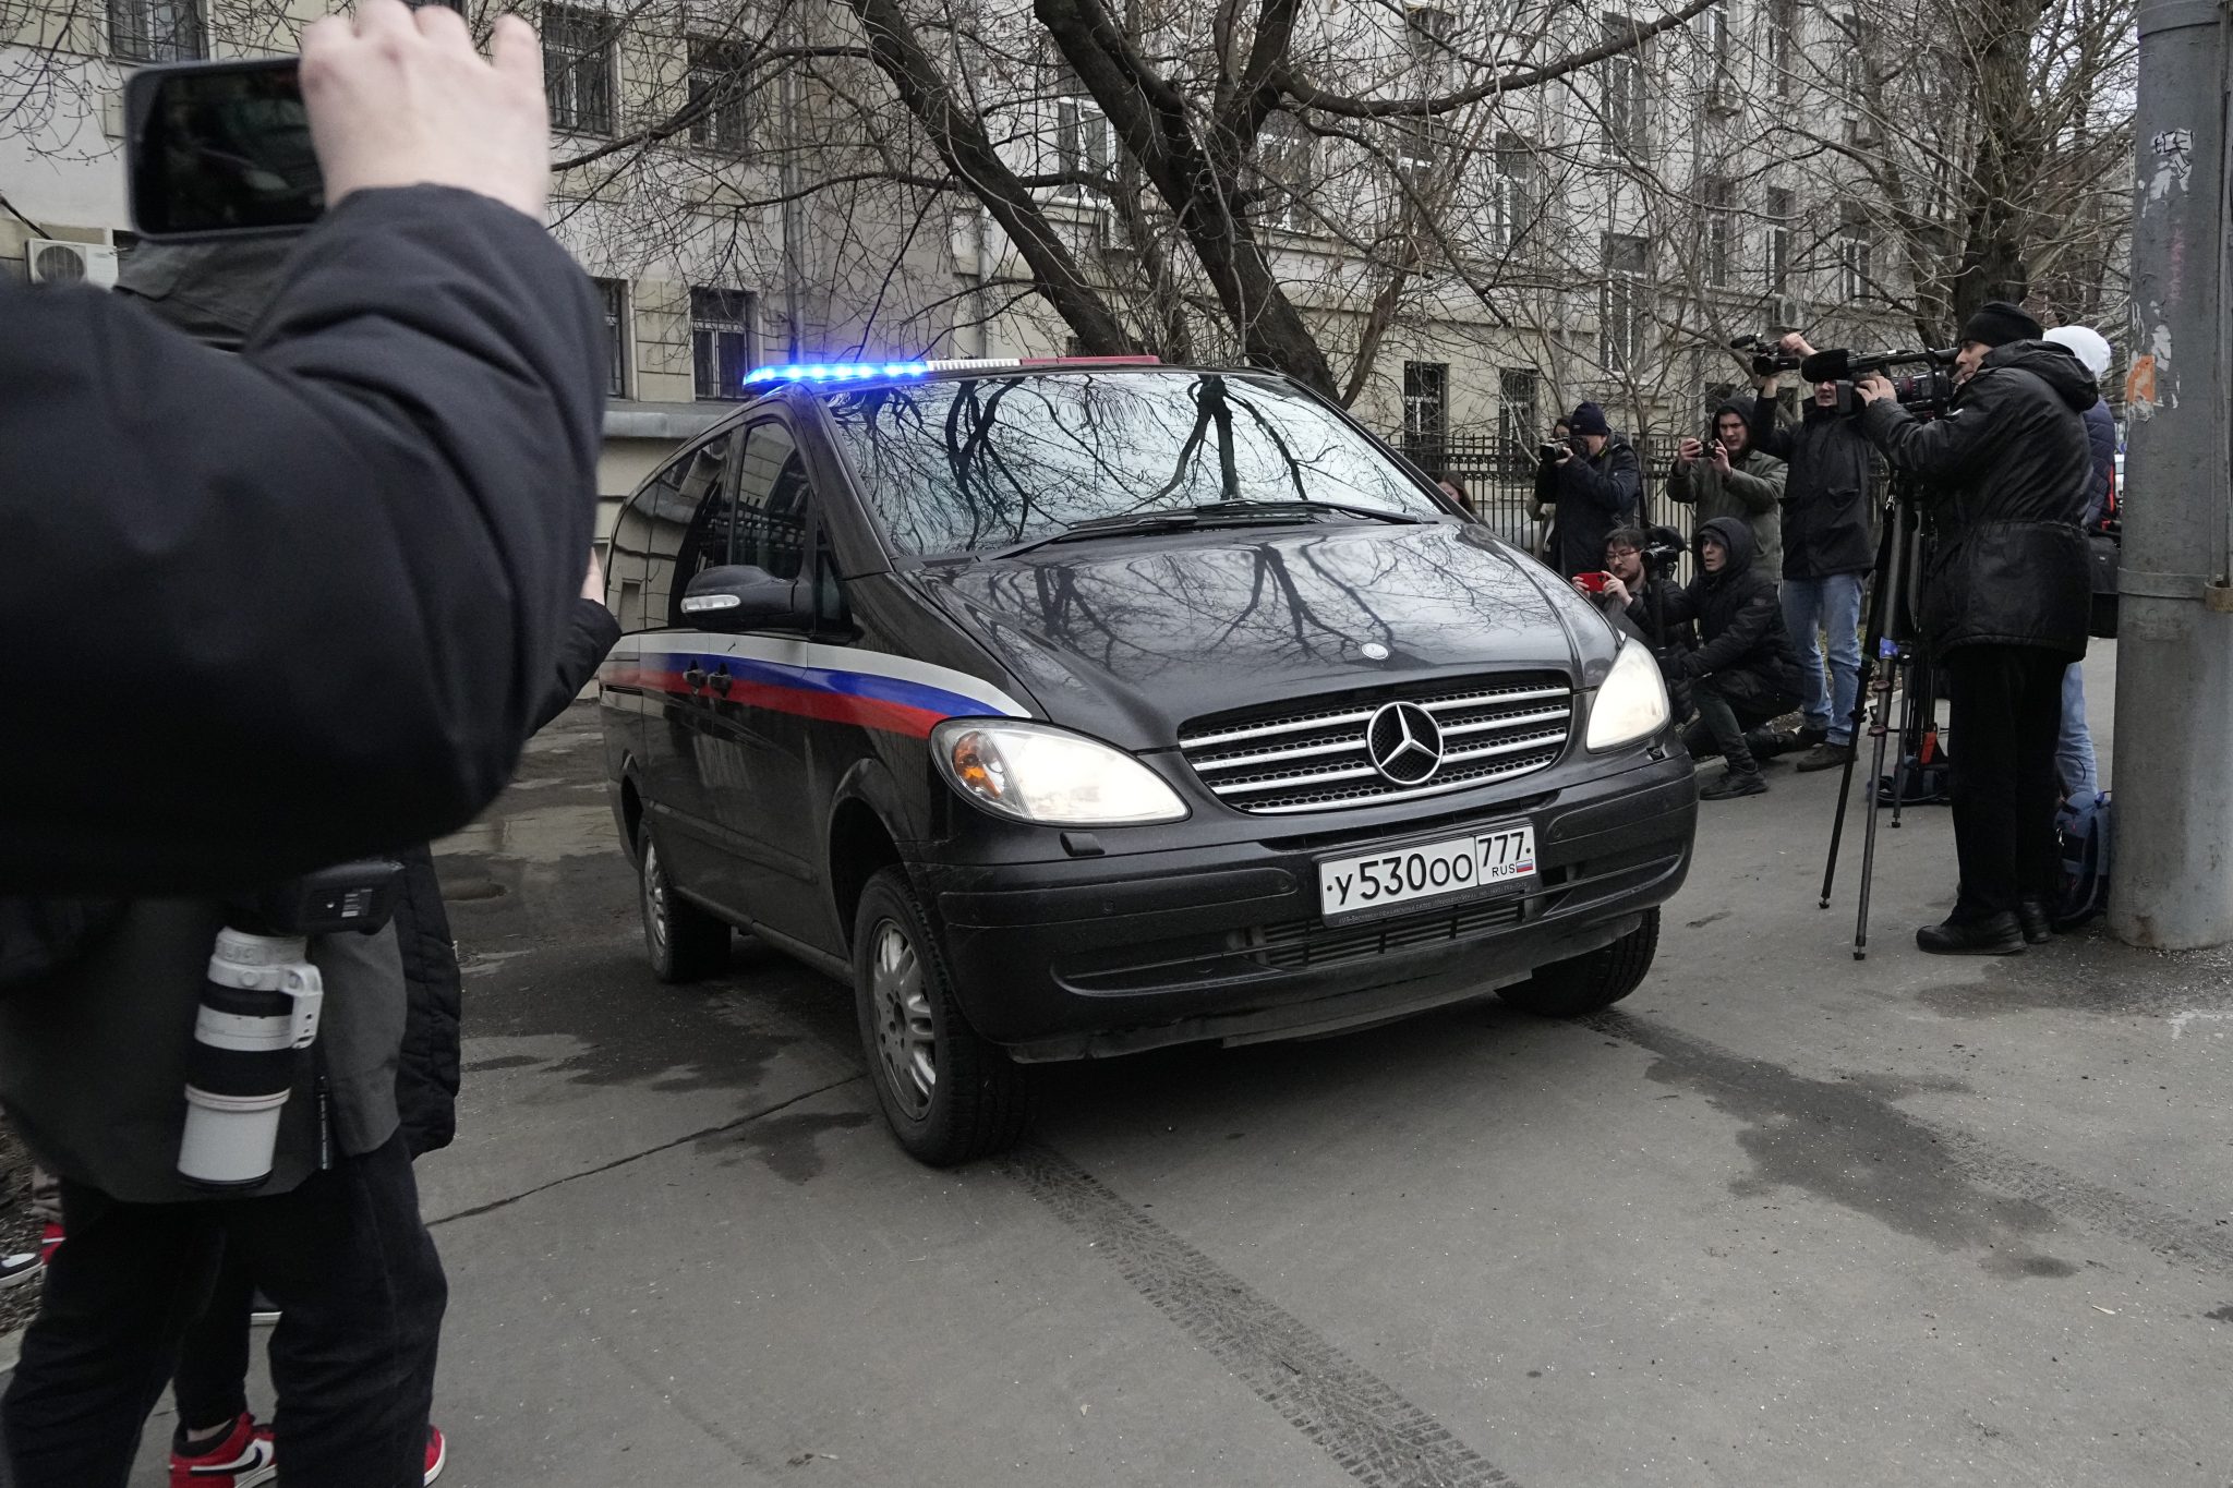
[[[962,796],[1016,821],[1114,828],[1186,817],[1154,770],[1045,723],[947,718],[931,729],[931,759]]]

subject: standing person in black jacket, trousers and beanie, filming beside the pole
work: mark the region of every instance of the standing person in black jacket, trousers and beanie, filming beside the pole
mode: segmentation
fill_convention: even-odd
[[[1954,709],[1961,892],[1945,924],[1916,930],[1936,955],[2005,955],[2052,935],[2054,736],[2092,605],[2079,520],[2095,482],[2083,410],[2097,390],[2039,335],[2003,301],[1972,315],[1940,419],[1918,422],[1880,375],[1856,386],[1862,431],[1923,480],[1938,522],[1918,622]]]

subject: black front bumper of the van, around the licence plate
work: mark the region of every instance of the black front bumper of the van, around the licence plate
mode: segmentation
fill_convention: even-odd
[[[1326,926],[1317,863],[1472,830],[1534,825],[1514,890]],[[1478,997],[1608,946],[1681,888],[1690,759],[1576,781],[1367,841],[1230,841],[1065,861],[909,863],[938,906],[969,1024],[1018,1060],[1081,1060],[1201,1040],[1302,1037]]]

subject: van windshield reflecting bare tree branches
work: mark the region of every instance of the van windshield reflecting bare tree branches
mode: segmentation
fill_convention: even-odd
[[[1271,377],[1047,370],[844,390],[826,408],[884,531],[918,555],[1213,502],[1440,513],[1355,428]]]

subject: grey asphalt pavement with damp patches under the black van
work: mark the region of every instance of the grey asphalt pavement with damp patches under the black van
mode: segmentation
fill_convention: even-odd
[[[936,1173],[844,988],[650,979],[592,729],[442,854],[447,1481],[2233,1481],[2233,962],[1918,955],[1943,810],[1867,962],[1815,908],[1836,774],[1775,767],[1614,1013],[1070,1069]]]

